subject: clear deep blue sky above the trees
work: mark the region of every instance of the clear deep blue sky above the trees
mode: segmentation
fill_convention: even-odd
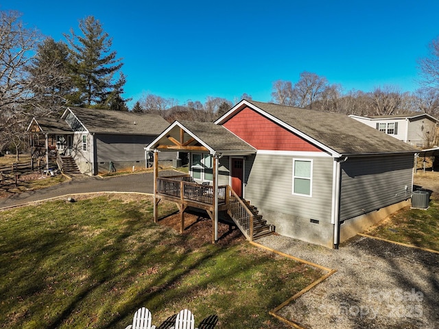
[[[247,93],[270,101],[276,80],[309,71],[344,90],[418,88],[416,60],[439,35],[439,1],[3,0],[55,40],[92,15],[123,58],[125,97],[204,103]],[[133,103],[131,102],[130,105]]]

